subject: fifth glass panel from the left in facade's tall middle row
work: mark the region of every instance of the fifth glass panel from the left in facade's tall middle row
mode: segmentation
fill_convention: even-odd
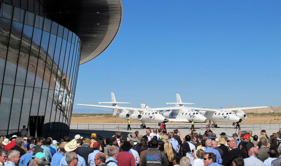
[[[38,87],[38,88],[42,87],[49,37],[50,37],[50,33],[43,31],[40,53],[39,53],[39,57],[38,57],[38,67],[37,67],[38,69],[37,69],[36,79],[35,79],[35,87]],[[48,80],[48,82],[49,82],[49,80]],[[49,84],[47,83],[47,80],[44,80],[44,84],[46,84],[45,87],[49,86]]]

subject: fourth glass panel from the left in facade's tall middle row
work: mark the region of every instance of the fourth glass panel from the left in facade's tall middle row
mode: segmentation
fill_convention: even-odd
[[[32,46],[30,50],[29,64],[28,64],[28,72],[26,77],[26,86],[34,86],[35,73],[38,62],[38,54],[40,48],[42,30],[38,28],[34,28],[33,38],[32,38]]]

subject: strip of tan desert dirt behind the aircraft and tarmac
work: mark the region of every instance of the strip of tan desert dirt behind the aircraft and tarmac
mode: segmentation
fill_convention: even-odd
[[[131,123],[141,123],[140,121],[130,119]],[[71,123],[126,123],[127,120],[122,120],[121,118],[104,118],[99,117],[72,117]],[[242,123],[280,123],[280,116],[253,116],[248,115],[248,118],[243,120]],[[168,123],[177,123],[177,122],[168,122]],[[179,122],[182,123],[182,122]],[[220,123],[220,122],[219,122]],[[223,123],[223,122],[221,122]]]

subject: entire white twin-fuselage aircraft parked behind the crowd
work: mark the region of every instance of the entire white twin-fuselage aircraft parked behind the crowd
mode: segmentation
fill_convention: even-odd
[[[217,127],[217,122],[241,122],[247,118],[247,114],[242,110],[245,109],[257,109],[265,108],[267,106],[259,107],[239,107],[239,108],[227,108],[227,109],[205,109],[184,106],[193,103],[183,103],[180,99],[180,95],[176,94],[176,103],[174,107],[164,108],[149,108],[146,104],[141,104],[141,108],[121,107],[117,104],[130,104],[127,102],[116,102],[114,93],[111,92],[111,102],[99,102],[99,104],[112,104],[112,106],[103,105],[89,105],[89,104],[76,104],[82,106],[92,106],[98,108],[112,109],[113,115],[119,114],[122,119],[134,119],[142,122],[141,128],[145,128],[146,122],[166,123],[168,121],[173,122],[191,122],[192,120],[197,123],[214,122],[214,127]]]

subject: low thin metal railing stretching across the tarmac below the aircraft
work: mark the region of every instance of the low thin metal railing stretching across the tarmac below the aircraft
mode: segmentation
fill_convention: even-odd
[[[131,124],[132,129],[140,129],[141,124]],[[207,124],[195,124],[195,130],[205,130],[205,126]],[[280,128],[280,123],[243,123],[241,125],[241,130],[251,130],[251,129],[271,129],[271,127],[276,128],[276,131]],[[227,129],[235,129],[232,124],[217,124],[219,128]],[[146,124],[146,128],[160,128],[158,124]],[[268,128],[269,127],[269,128]],[[279,127],[279,128],[278,128]],[[190,129],[191,124],[166,124],[166,129]],[[278,128],[278,129],[277,129]],[[79,130],[120,130],[120,129],[127,129],[127,124],[124,123],[111,123],[111,124],[102,124],[102,123],[71,123],[70,129],[79,129]],[[216,130],[214,126],[212,126],[212,130]]]

